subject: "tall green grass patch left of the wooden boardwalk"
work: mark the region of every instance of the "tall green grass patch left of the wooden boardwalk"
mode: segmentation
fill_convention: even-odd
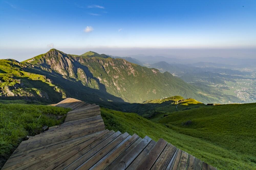
[[[39,134],[45,125],[60,124],[68,111],[53,106],[0,103],[0,168],[26,135]]]

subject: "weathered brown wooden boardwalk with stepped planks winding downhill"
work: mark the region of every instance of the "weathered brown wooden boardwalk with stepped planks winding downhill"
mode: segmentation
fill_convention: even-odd
[[[65,122],[20,143],[3,169],[216,169],[163,139],[105,130],[100,107],[67,98]]]

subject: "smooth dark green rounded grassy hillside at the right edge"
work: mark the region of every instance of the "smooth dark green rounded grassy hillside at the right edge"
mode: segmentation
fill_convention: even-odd
[[[190,122],[188,122],[190,121]],[[187,122],[187,123],[186,123]],[[256,103],[227,104],[170,113],[159,120],[170,129],[215,143],[256,163]]]

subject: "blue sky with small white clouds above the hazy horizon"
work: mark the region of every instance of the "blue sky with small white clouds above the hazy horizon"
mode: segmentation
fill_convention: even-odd
[[[4,0],[0,22],[0,58],[19,49],[256,48],[255,0]]]

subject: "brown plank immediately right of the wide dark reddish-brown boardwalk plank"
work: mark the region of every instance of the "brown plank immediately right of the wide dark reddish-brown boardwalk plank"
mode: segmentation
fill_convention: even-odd
[[[168,143],[151,169],[165,169],[172,159],[176,149],[175,146]]]

